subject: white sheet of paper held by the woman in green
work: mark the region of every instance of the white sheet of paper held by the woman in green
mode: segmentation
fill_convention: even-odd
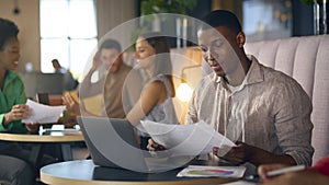
[[[65,106],[48,106],[31,100],[27,100],[26,105],[32,108],[32,115],[27,119],[22,119],[23,123],[53,124],[65,109]]]

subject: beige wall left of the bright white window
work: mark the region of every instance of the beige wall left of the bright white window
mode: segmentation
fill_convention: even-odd
[[[13,14],[14,0],[0,0],[0,16],[19,26],[21,62],[19,71],[25,70],[26,62],[33,62],[33,70],[39,70],[39,11],[38,0],[18,1],[20,14]]]

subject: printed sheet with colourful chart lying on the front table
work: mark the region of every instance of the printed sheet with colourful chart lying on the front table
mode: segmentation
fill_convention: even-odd
[[[177,174],[178,177],[242,177],[246,166],[189,165]]]

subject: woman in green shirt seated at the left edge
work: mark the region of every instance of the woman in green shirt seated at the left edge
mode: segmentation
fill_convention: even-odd
[[[19,28],[12,21],[0,18],[0,131],[35,132],[38,125],[21,122],[30,117],[31,109],[25,105],[23,81],[13,72],[18,69],[21,57],[18,34]],[[8,180],[12,185],[33,184],[35,173],[33,166],[27,164],[30,151],[15,142],[0,141],[0,155],[1,180]]]

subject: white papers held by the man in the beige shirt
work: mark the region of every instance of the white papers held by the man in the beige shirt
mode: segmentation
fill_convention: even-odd
[[[208,124],[200,122],[192,125],[168,125],[144,120],[137,126],[157,142],[168,149],[171,155],[198,155],[218,147],[218,155],[226,154],[236,144],[214,130]]]

